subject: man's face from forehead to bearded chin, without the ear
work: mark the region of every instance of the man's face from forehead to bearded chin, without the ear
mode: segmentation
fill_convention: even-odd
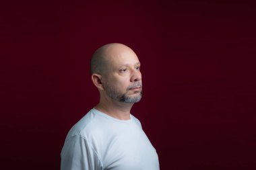
[[[108,97],[125,103],[135,103],[142,96],[139,59],[132,50],[121,50],[108,58],[108,74],[104,87]]]

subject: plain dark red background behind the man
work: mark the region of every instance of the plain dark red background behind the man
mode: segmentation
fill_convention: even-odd
[[[1,4],[1,169],[59,169],[98,101],[90,54],[121,42],[142,63],[132,113],[161,169],[256,169],[256,5],[250,1]]]

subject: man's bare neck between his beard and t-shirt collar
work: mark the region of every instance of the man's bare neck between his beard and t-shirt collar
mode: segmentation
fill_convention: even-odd
[[[130,111],[133,103],[125,103],[121,101],[113,101],[100,97],[100,102],[94,108],[108,116],[119,120],[130,120]]]

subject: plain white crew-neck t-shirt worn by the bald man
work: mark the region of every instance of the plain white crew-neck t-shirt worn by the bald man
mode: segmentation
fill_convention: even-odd
[[[61,151],[61,170],[158,170],[155,148],[137,118],[118,120],[96,109],[75,124]]]

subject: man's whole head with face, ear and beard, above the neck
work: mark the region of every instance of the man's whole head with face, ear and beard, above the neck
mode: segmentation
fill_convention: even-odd
[[[128,46],[113,43],[98,48],[92,55],[91,74],[102,102],[135,103],[141,99],[140,62]]]

